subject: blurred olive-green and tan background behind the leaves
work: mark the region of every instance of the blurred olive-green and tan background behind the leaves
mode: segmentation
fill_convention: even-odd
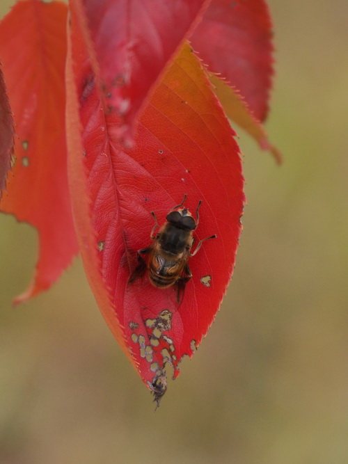
[[[235,275],[155,414],[79,260],[11,307],[37,237],[0,217],[1,464],[348,463],[348,2],[269,5],[267,129],[285,162],[241,134],[248,205]]]

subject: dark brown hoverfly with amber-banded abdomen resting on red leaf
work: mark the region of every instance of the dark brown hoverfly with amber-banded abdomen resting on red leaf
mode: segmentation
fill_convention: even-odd
[[[180,205],[169,211],[166,222],[160,227],[157,234],[155,234],[155,230],[159,224],[155,213],[151,212],[155,219],[155,225],[150,234],[152,243],[148,248],[138,250],[138,265],[129,279],[129,282],[133,282],[147,269],[150,282],[155,287],[166,289],[172,285],[177,286],[177,303],[180,303],[180,294],[192,277],[188,264],[189,258],[196,255],[203,241],[216,238],[214,234],[200,240],[196,249],[191,253],[193,230],[199,223],[198,209],[200,209],[202,200],[198,202],[195,221],[189,209],[183,207],[186,198],[187,195],[184,195]],[[146,261],[143,255],[148,255]]]

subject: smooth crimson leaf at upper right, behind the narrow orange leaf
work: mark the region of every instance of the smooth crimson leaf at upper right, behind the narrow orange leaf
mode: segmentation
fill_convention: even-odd
[[[264,0],[212,0],[191,38],[209,71],[236,87],[261,121],[273,74],[271,28]]]

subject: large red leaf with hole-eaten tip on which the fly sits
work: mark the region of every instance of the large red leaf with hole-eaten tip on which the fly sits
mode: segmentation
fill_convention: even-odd
[[[68,114],[70,167],[80,163],[81,168],[84,150],[87,178],[81,189],[89,191],[90,209],[84,205],[81,210],[79,197],[83,194],[73,189],[81,176],[78,168],[70,169],[70,184],[77,233],[85,247],[86,273],[90,282],[93,276],[97,279],[99,288],[94,285],[93,291],[97,301],[104,302],[100,309],[106,321],[115,333],[117,316],[141,378],[158,400],[166,389],[165,362],[173,365],[176,377],[182,356],[191,356],[193,345],[207,333],[232,274],[244,201],[238,147],[199,61],[187,45],[155,89],[141,116],[136,143],[129,150],[113,137],[120,118],[102,106],[74,10],[71,47],[68,65],[74,65],[77,96],[69,83],[69,98],[75,98],[71,105],[74,121]],[[78,125],[76,97],[82,143],[73,140],[72,123]],[[196,240],[214,233],[218,238],[204,243],[191,259],[193,278],[178,305],[173,288],[152,287],[147,277],[132,284],[128,281],[136,266],[136,251],[150,244],[150,211],[163,223],[184,194],[191,211],[203,200]],[[104,290],[93,269],[97,247]]]

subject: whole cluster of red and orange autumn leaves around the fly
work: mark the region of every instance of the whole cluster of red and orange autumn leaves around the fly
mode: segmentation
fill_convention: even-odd
[[[106,323],[157,402],[166,365],[175,378],[200,344],[235,265],[244,179],[228,118],[279,159],[260,123],[271,52],[264,0],[22,0],[0,23],[0,207],[40,237],[15,302],[81,253]],[[178,300],[175,285],[129,276],[150,246],[150,213],[161,226],[184,195],[193,218],[202,200],[195,243],[217,238],[189,259]]]

